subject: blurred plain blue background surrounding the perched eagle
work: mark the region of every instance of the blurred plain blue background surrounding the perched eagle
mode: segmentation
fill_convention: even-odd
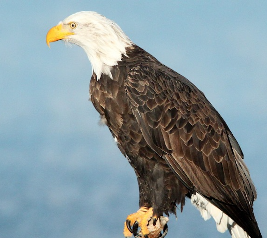
[[[0,3],[0,237],[118,238],[138,209],[133,169],[88,102],[79,47],[45,43],[70,14],[97,11],[194,82],[239,141],[267,235],[266,1]],[[230,237],[187,201],[167,237]]]

